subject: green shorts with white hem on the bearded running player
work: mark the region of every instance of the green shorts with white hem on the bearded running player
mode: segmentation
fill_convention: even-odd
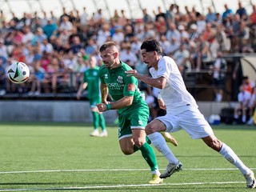
[[[145,129],[149,120],[149,110],[147,107],[130,110],[128,113],[119,114],[118,139],[132,136],[133,129]]]

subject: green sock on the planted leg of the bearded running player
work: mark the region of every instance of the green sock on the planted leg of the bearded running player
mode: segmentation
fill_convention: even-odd
[[[151,171],[158,170],[157,158],[154,155],[154,150],[152,147],[147,142],[145,142],[139,150],[142,151],[142,156],[150,166]]]

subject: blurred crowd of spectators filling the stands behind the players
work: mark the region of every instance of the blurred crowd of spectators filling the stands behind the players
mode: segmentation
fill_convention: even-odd
[[[116,42],[122,62],[142,74],[148,74],[148,70],[139,50],[142,41],[149,38],[161,42],[164,54],[174,58],[181,73],[204,69],[203,63],[214,61],[219,52],[255,52],[256,6],[250,14],[242,2],[238,2],[237,10],[223,6],[223,13],[208,7],[206,14],[196,7],[185,6],[181,12],[175,4],[168,10],[158,6],[153,13],[143,9],[143,17],[135,20],[127,18],[124,10],[114,10],[112,18],[106,19],[101,9],[90,15],[86,7],[81,12],[63,8],[60,17],[53,11],[24,13],[22,18],[13,13],[10,20],[1,11],[0,95],[76,92],[90,55],[96,55],[98,66],[102,65],[98,48],[106,41]],[[25,62],[31,74],[19,86],[7,81],[5,75],[7,67],[16,61]],[[157,92],[142,84],[140,88],[153,97]]]

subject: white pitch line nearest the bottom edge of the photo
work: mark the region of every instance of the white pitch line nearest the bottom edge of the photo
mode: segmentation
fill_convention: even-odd
[[[138,186],[191,186],[191,185],[206,185],[206,184],[234,184],[244,182],[182,182],[182,183],[165,183],[165,184],[139,184],[139,185],[116,185],[116,186],[70,186],[70,187],[54,187],[54,188],[28,188],[28,189],[0,189],[0,191],[30,191],[30,190],[93,190],[93,189],[111,189],[123,187],[138,187]]]

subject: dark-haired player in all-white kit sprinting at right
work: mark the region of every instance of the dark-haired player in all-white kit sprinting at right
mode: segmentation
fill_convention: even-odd
[[[162,56],[162,47],[159,42],[154,39],[146,40],[142,43],[141,54],[143,62],[150,67],[152,78],[138,74],[136,70],[126,73],[149,86],[157,87],[159,89],[159,106],[166,110],[165,116],[155,118],[145,129],[154,147],[169,162],[166,171],[160,175],[160,178],[170,177],[174,172],[182,170],[182,163],[174,156],[160,132],[175,132],[183,129],[190,134],[190,138],[201,138],[207,146],[216,150],[236,166],[246,178],[247,187],[255,188],[254,172],[244,165],[229,146],[215,137],[209,123],[198,110],[193,96],[186,90],[178,66],[172,58]]]

